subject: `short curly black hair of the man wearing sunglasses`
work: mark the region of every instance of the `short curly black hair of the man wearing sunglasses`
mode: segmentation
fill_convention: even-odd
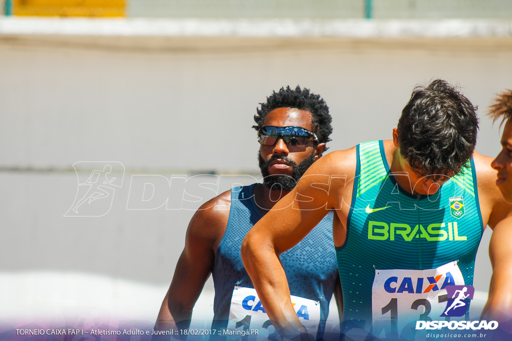
[[[287,86],[286,89],[282,87],[279,89],[279,93],[274,91],[267,97],[267,103],[260,104],[261,109],[258,108],[258,113],[254,115],[254,122],[256,122],[252,126],[254,129],[260,130],[263,127],[263,121],[270,111],[277,108],[296,108],[311,112],[312,130],[318,137],[319,143],[331,141],[329,135],[332,132],[332,118],[329,115],[329,107],[320,95],[310,93],[309,89],[301,89],[298,85],[294,90],[290,86]]]

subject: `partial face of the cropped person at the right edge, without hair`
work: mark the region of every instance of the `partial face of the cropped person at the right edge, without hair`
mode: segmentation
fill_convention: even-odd
[[[512,122],[508,120],[501,137],[501,151],[490,164],[498,171],[496,186],[501,191],[503,198],[512,203]]]

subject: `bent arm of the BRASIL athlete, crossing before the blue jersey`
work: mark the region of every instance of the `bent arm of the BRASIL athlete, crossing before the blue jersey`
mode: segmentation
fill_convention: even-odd
[[[242,260],[245,268],[270,320],[283,336],[296,335],[302,331],[302,325],[290,301],[279,255],[301,241],[331,209],[336,210],[338,218],[345,224],[348,207],[343,198],[347,187],[352,192],[351,186],[345,185],[354,173],[355,148],[322,157],[244,239]],[[350,195],[345,196],[350,198]],[[348,204],[350,206],[350,199]]]

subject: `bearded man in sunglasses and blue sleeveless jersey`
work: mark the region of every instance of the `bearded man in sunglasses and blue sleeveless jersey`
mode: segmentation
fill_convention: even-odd
[[[281,88],[254,116],[263,184],[237,187],[206,202],[191,219],[185,248],[163,301],[156,329],[174,322],[187,329],[194,304],[211,274],[215,301],[212,336],[223,330],[259,330],[250,338],[277,336],[247,275],[240,255],[252,226],[289,193],[304,172],[322,156],[332,131],[325,101],[308,89]],[[215,210],[215,206],[229,210]],[[281,255],[295,313],[316,338],[324,335],[329,302],[340,283],[336,265],[333,215],[328,214],[301,243]],[[338,304],[340,309],[341,304]]]

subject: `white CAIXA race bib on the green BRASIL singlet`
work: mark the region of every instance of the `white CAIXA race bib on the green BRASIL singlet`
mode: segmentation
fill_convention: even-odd
[[[400,332],[416,321],[439,320],[448,300],[447,285],[464,285],[457,261],[428,270],[375,270],[373,334],[378,337]]]

